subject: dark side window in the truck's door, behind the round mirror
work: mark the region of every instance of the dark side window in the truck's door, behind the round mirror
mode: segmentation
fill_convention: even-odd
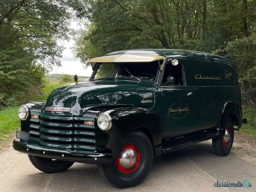
[[[167,63],[164,69],[163,83],[166,83],[169,76],[174,77],[175,82],[172,85],[184,85],[183,67],[181,64],[173,66],[172,63]],[[168,83],[166,84],[168,85]]]

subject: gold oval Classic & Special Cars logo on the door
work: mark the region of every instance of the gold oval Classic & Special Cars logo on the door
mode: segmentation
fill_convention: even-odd
[[[169,116],[173,119],[183,119],[188,115],[189,108],[187,104],[180,106],[179,104],[173,103],[169,109]]]

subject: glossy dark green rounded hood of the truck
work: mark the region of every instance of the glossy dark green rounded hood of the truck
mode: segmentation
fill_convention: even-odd
[[[132,105],[152,108],[155,104],[154,86],[144,82],[122,80],[99,80],[69,84],[55,89],[48,97],[45,107],[54,105],[70,108],[68,112],[44,111],[44,114],[83,116],[94,107]]]

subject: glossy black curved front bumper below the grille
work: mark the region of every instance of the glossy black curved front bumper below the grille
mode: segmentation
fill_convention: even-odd
[[[58,159],[62,161],[71,161],[88,164],[110,164],[113,162],[112,154],[81,152],[71,150],[59,150],[53,148],[42,147],[36,143],[28,141],[13,140],[12,147],[16,151],[29,155],[40,156],[50,159]]]

